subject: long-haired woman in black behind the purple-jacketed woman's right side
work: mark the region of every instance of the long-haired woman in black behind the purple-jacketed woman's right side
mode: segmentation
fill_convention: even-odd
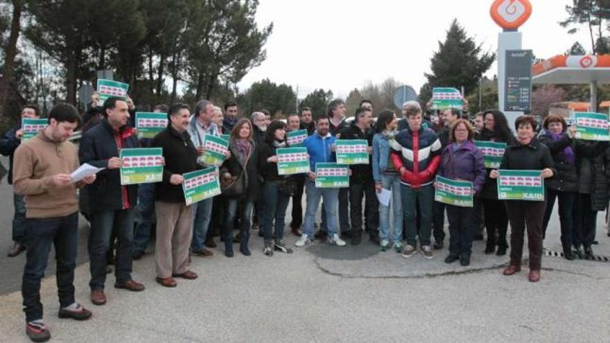
[[[483,113],[485,126],[480,133],[480,141],[493,141],[496,143],[507,143],[514,141],[512,132],[508,127],[506,117],[500,111],[490,110]],[[498,200],[498,185],[495,179],[489,177],[491,172],[487,168],[485,184],[480,192],[480,200],[483,204],[483,216],[485,217],[485,229],[487,230],[487,244],[485,254],[490,255],[496,252],[498,256],[506,254],[508,243],[506,232],[508,229],[508,216],[503,200]]]

